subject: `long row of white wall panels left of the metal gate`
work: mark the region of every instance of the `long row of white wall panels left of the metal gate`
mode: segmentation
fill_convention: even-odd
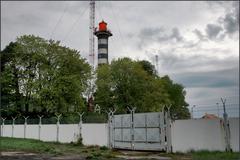
[[[82,138],[85,145],[107,146],[108,127],[105,123],[99,124],[82,124]],[[12,137],[12,125],[2,126],[3,137]],[[24,125],[14,125],[14,136],[16,138],[24,138]],[[75,142],[79,137],[78,124],[60,124],[59,126],[59,142],[70,143]],[[39,125],[27,125],[26,138],[39,138]],[[41,125],[42,141],[57,140],[57,125],[43,124]]]

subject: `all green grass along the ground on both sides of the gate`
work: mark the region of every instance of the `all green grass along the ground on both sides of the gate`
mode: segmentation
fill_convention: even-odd
[[[64,144],[56,142],[42,142],[33,139],[22,138],[0,138],[1,151],[24,151],[31,153],[41,153],[50,155],[81,155],[89,160],[105,160],[116,159],[117,155],[123,153],[117,150],[109,150],[107,147],[99,146],[82,146],[77,144]],[[151,152],[138,152],[137,155],[147,156]],[[210,151],[191,151],[189,153],[158,153],[154,154],[162,157],[171,157],[172,160],[240,160],[240,153],[238,152],[210,152]],[[132,155],[136,156],[136,155]]]

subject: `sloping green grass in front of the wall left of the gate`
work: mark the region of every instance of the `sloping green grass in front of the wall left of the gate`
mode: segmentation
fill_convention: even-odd
[[[81,155],[86,159],[111,159],[114,152],[107,147],[82,146],[77,144],[65,144],[56,142],[43,142],[33,139],[0,138],[1,151],[24,151],[49,155]]]

